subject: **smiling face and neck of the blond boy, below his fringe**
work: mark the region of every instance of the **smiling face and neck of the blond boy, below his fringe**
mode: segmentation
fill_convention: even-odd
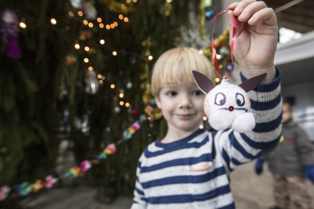
[[[204,116],[205,95],[195,83],[164,85],[155,98],[168,124],[168,132],[194,132]]]

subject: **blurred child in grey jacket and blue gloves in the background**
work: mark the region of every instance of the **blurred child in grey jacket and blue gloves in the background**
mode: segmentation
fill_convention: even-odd
[[[255,172],[262,173],[264,160],[274,179],[275,204],[272,209],[312,209],[306,178],[314,183],[314,147],[306,132],[293,119],[291,105],[283,102],[284,140],[263,159],[258,159]]]

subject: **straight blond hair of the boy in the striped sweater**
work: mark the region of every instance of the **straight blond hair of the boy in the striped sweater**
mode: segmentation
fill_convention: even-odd
[[[207,57],[191,47],[176,47],[165,51],[157,59],[151,77],[153,96],[158,96],[165,84],[195,82],[192,71],[198,71],[213,81],[215,74]]]

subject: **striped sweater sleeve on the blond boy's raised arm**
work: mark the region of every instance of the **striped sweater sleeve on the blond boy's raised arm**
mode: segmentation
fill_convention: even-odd
[[[228,172],[238,165],[247,163],[273,150],[282,131],[281,72],[268,84],[260,84],[248,92],[251,101],[250,112],[256,125],[253,130],[239,133],[231,129],[218,131],[214,136],[216,152],[221,155]],[[241,75],[242,81],[245,78]]]

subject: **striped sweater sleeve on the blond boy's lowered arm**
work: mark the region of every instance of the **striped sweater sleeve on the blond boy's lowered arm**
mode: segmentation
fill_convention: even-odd
[[[142,157],[143,157],[143,155],[142,155]],[[134,189],[133,204],[132,204],[131,209],[146,209],[147,208],[147,201],[145,198],[144,190],[143,190],[142,184],[139,180],[142,157],[140,157],[138,167],[136,170],[136,183],[135,183],[135,189]]]

